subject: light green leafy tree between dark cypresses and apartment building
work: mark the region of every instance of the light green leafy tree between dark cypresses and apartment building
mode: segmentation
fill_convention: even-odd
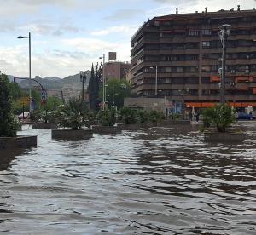
[[[131,85],[126,80],[111,79],[106,83],[106,100],[109,106],[124,106],[125,97],[130,95]],[[103,89],[100,89],[100,100],[103,97]],[[113,104],[114,103],[114,104]]]

